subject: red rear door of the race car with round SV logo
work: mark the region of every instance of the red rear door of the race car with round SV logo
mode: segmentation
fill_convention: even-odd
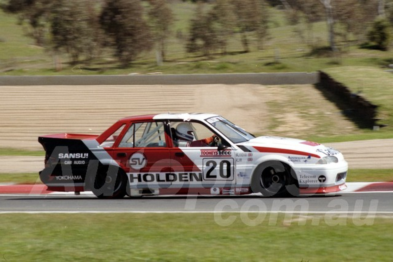
[[[131,189],[167,188],[171,180],[170,148],[163,121],[130,123],[110,150],[125,170]]]

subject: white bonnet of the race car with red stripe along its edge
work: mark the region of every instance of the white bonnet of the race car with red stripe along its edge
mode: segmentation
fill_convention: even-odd
[[[319,143],[279,136],[260,136],[249,141],[238,144],[245,148],[254,149],[259,152],[275,152],[285,154],[299,154],[323,158],[325,156],[336,156],[343,159],[342,154],[331,147],[326,147]],[[251,148],[250,148],[251,147]],[[251,150],[253,151],[253,150]]]

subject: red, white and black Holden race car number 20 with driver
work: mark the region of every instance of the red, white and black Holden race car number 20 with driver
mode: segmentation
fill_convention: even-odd
[[[39,137],[40,179],[51,191],[99,198],[160,194],[297,196],[346,188],[348,164],[333,148],[255,137],[215,114],[120,119],[101,135]]]

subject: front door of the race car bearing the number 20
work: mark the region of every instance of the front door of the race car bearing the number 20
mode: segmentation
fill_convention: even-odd
[[[230,147],[218,150],[217,145],[199,142],[214,134],[201,122],[189,122],[193,128],[193,131],[189,132],[194,136],[193,141],[176,143],[176,127],[180,123],[182,122],[170,123],[174,140],[174,147],[170,152],[171,168],[178,176],[178,180],[174,181],[172,186],[211,188],[216,192],[217,188],[234,186],[236,181],[233,150]]]

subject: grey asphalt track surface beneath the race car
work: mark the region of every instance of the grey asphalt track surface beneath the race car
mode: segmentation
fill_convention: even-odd
[[[0,195],[0,213],[332,213],[393,215],[393,192],[348,192],[297,198],[246,196],[146,196],[119,200],[79,196]]]

